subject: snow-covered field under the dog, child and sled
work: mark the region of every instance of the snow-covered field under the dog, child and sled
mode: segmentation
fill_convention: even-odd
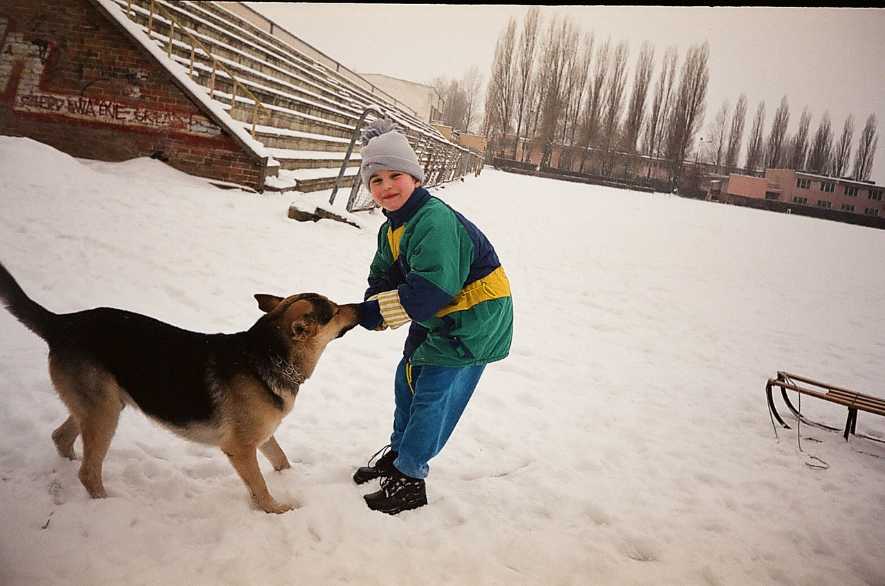
[[[775,435],[764,399],[779,369],[885,396],[885,231],[492,169],[433,192],[495,244],[516,321],[429,505],[373,513],[350,481],[387,443],[405,328],[329,345],[276,435],[293,468],[261,460],[298,507],[269,515],[131,410],[89,499],[46,346],[0,312],[0,584],[885,583],[885,445]],[[253,293],[360,300],[381,214],[299,223],[294,197],[0,137],[0,262],[53,311],[206,332],[250,327]]]

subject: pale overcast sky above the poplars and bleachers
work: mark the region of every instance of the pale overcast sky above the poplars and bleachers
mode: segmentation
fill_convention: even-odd
[[[470,66],[489,77],[495,44],[508,19],[521,27],[529,5],[246,3],[276,24],[358,73],[383,73],[427,83],[460,79]],[[655,49],[656,68],[667,47],[680,59],[692,44],[710,42],[707,114],[722,102],[748,98],[749,127],[760,101],[766,132],[786,95],[789,133],[805,107],[810,133],[829,112],[837,140],[854,114],[852,164],[858,136],[874,113],[885,131],[885,10],[541,6],[542,24],[570,17],[596,40],[626,40],[630,75],[643,41]],[[519,34],[519,28],[518,28]],[[680,61],[681,65],[681,61]],[[657,70],[656,73],[657,74]],[[744,137],[744,147],[746,145]],[[885,139],[876,151],[873,181],[885,184]]]

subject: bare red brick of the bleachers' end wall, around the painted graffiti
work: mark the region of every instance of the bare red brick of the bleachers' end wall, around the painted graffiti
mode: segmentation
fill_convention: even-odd
[[[42,94],[67,96],[78,100],[76,104],[80,104],[81,96],[96,102],[104,100],[161,117],[164,112],[172,112],[183,117],[198,114],[212,120],[147,51],[89,0],[3,4],[0,17],[8,19],[9,33],[23,34],[26,42],[34,38],[50,42],[39,89]],[[27,23],[33,22],[42,23],[35,33],[27,27]],[[121,70],[142,74],[143,81],[137,88],[139,97],[127,97],[128,90],[133,88],[125,76],[109,76],[111,71]],[[118,124],[97,117],[74,118],[70,112],[25,112],[13,108],[14,90],[7,88],[5,95],[0,96],[0,134],[28,136],[74,157],[107,161],[150,157],[159,150],[169,157],[169,165],[185,173],[240,182],[254,189],[264,187],[263,161],[243,150],[223,130],[217,136],[196,136],[133,120]],[[101,107],[92,106],[93,111]],[[211,125],[215,127],[214,123]]]

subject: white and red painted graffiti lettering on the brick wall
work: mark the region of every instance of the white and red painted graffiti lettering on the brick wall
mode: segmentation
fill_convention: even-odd
[[[201,114],[43,91],[40,81],[52,43],[45,39],[26,40],[22,33],[7,31],[7,24],[6,19],[0,18],[0,39],[4,39],[0,47],[0,95],[12,95],[14,111],[204,137],[221,134],[219,127]],[[129,94],[137,97],[140,92],[133,88]]]

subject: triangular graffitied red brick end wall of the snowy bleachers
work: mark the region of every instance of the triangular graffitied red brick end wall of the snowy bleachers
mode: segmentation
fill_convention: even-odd
[[[74,157],[161,158],[263,189],[266,160],[202,112],[89,0],[0,0],[0,134]]]

